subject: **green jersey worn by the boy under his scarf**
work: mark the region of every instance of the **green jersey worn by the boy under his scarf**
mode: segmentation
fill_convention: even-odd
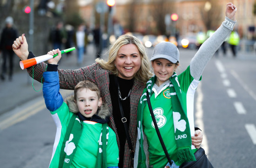
[[[63,143],[64,136],[67,131],[68,123],[72,115],[69,112],[66,103],[62,103],[61,107],[53,112],[51,112],[54,122],[57,127],[52,159],[50,162],[50,168],[58,168],[61,145]],[[95,123],[92,121],[83,121],[83,130],[81,134],[80,141],[76,147],[76,152],[74,155],[73,162],[71,164],[72,168],[94,168],[96,164],[96,158],[99,150],[99,139],[102,129],[101,123]],[[119,150],[117,146],[115,132],[109,128],[108,144],[107,144],[107,166],[115,167],[118,166],[119,162]],[[66,142],[66,145],[72,143]],[[72,151],[69,151],[69,153]]]

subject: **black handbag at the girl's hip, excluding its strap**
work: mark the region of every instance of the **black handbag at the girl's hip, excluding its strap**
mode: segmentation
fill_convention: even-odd
[[[184,162],[180,168],[213,168],[211,162],[207,158],[207,155],[205,155],[204,149],[199,148],[194,155],[196,161]]]

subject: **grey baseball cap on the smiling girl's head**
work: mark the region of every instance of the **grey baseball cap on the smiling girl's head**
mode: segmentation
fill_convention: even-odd
[[[170,42],[163,41],[155,45],[153,55],[150,61],[155,59],[164,58],[172,63],[177,63],[180,59],[180,52],[176,45]]]

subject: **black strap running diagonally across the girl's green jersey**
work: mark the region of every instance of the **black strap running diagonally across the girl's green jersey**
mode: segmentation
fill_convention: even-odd
[[[158,138],[159,138],[159,140],[160,140],[160,143],[161,143],[161,145],[162,145],[162,149],[163,149],[163,151],[164,151],[164,153],[165,153],[165,155],[166,155],[166,157],[167,157],[167,159],[168,159],[168,162],[170,163],[170,165],[172,165],[172,161],[171,161],[170,156],[169,156],[169,154],[168,154],[168,152],[167,152],[167,149],[166,149],[166,147],[165,147],[165,145],[164,145],[164,142],[163,142],[163,140],[162,140],[162,136],[161,136],[161,134],[160,134],[160,131],[159,131],[158,126],[157,126],[157,123],[156,123],[156,121],[155,121],[155,115],[154,115],[154,113],[153,113],[152,106],[151,106],[151,103],[150,103],[148,90],[147,90],[147,102],[148,102],[148,108],[149,108],[149,111],[150,111],[150,114],[151,114],[153,123],[154,123],[154,125],[155,125],[155,130],[156,130],[157,136],[158,136]]]

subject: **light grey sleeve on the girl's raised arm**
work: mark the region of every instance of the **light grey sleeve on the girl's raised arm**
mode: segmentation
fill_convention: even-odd
[[[199,80],[204,68],[217,49],[222,45],[234,28],[236,21],[225,18],[222,25],[209,37],[195,53],[190,61],[190,73],[195,80]]]

